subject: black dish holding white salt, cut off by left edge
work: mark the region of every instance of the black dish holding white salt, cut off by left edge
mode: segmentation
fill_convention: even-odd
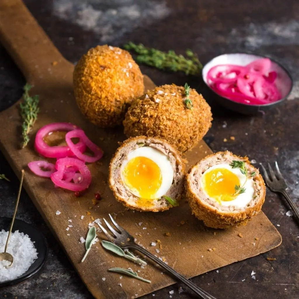
[[[10,228],[11,220],[11,218],[1,217],[0,231],[2,229],[8,231]],[[37,259],[30,266],[30,268],[20,277],[16,278],[15,280],[4,281],[2,283],[0,282],[0,288],[4,286],[12,286],[33,276],[42,268],[48,256],[48,242],[46,238],[42,235],[42,233],[40,233],[36,228],[31,226],[30,224],[18,219],[16,219],[13,224],[12,232],[17,230],[19,230],[19,232],[27,234],[31,241],[35,242],[34,246],[36,248],[36,251],[38,252]]]

